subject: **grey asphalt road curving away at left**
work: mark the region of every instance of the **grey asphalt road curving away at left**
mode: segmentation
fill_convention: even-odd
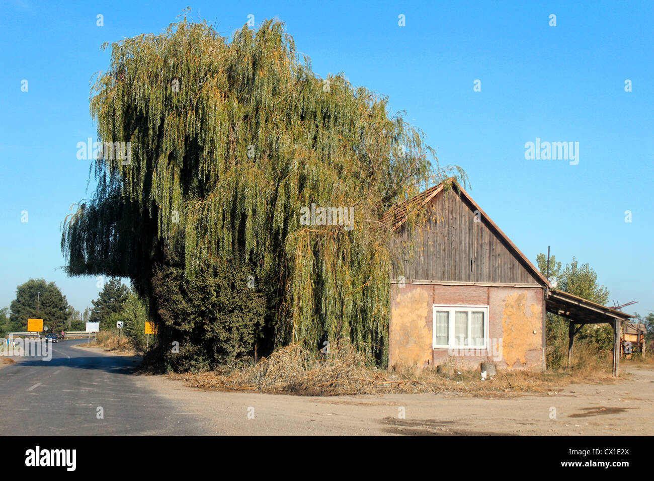
[[[50,361],[0,366],[0,435],[202,434],[198,419],[133,374],[134,357],[73,347],[80,342],[53,344]]]

